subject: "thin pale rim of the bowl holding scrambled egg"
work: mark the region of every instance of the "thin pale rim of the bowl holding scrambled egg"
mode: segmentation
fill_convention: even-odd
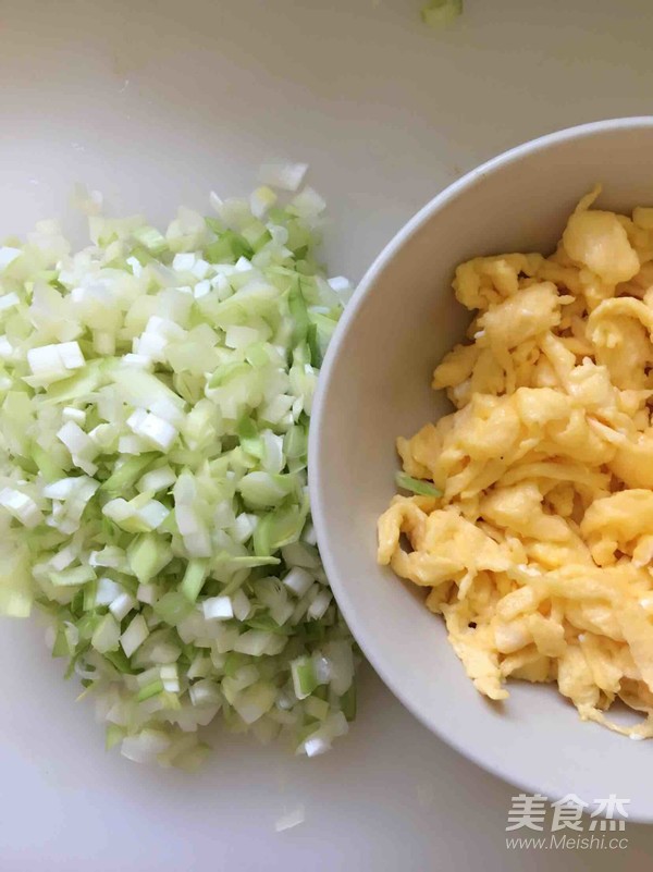
[[[321,499],[321,494],[323,492],[321,487],[322,470],[321,470],[321,464],[317,459],[320,456],[322,414],[326,402],[326,395],[329,393],[331,374],[335,365],[335,360],[349,332],[350,326],[356,320],[356,316],[364,300],[366,299],[371,288],[373,287],[378,277],[392,261],[397,251],[416,233],[418,233],[421,230],[421,228],[430,220],[430,218],[435,212],[438,212],[447,204],[457,199],[463,194],[470,191],[477,184],[477,182],[483,176],[494,172],[500,168],[506,167],[509,163],[518,161],[527,155],[537,153],[539,151],[543,151],[550,148],[553,145],[558,145],[560,143],[569,142],[572,139],[583,139],[587,137],[591,137],[594,136],[596,133],[606,133],[618,130],[637,131],[637,130],[651,130],[651,128],[653,128],[653,115],[633,115],[625,118],[605,119],[603,121],[592,121],[586,124],[578,124],[572,127],[565,127],[563,130],[555,131],[553,133],[549,133],[543,136],[539,136],[534,139],[529,139],[528,142],[522,143],[520,145],[517,145],[508,149],[507,151],[504,151],[491,158],[490,160],[486,160],[480,165],[473,168],[469,172],[465,173],[465,175],[463,175],[460,179],[456,180],[451,185],[447,185],[445,188],[443,188],[431,200],[429,200],[421,209],[419,209],[412,216],[412,218],[410,218],[395,233],[395,235],[384,246],[384,248],[377,256],[372,265],[368,268],[368,270],[364,274],[356,291],[352,295],[349,303],[345,307],[345,311],[333,334],[333,337],[324,356],[324,360],[322,363],[322,368],[318,379],[317,391],[313,398],[311,422],[309,428],[309,439],[308,439],[308,455],[310,458],[312,458],[312,462],[310,462],[308,466],[309,492],[311,494],[311,514],[318,537],[318,544],[321,549],[320,553],[322,557],[322,563],[324,565],[329,582],[332,587],[338,607],[343,612],[345,621],[347,622],[347,625],[350,628],[357,643],[359,644],[366,659],[371,663],[372,667],[374,668],[379,677],[382,679],[384,685],[399,700],[399,702],[415,717],[417,717],[417,720],[421,724],[423,724],[431,733],[433,733],[440,739],[445,741],[449,747],[454,748],[463,757],[465,757],[468,760],[471,760],[473,763],[476,763],[485,772],[490,772],[492,775],[495,775],[504,783],[514,785],[522,790],[527,790],[531,795],[540,793],[540,785],[531,781],[528,776],[519,777],[516,775],[513,777],[512,775],[508,775],[497,765],[495,765],[491,761],[485,760],[480,750],[478,751],[476,748],[470,749],[467,745],[463,745],[457,740],[457,737],[455,735],[452,735],[451,733],[441,729],[438,724],[433,724],[431,721],[429,721],[419,710],[418,705],[411,700],[411,698],[404,692],[402,686],[398,685],[387,673],[382,658],[375,651],[375,647],[368,643],[367,632],[364,628],[361,628],[360,619],[357,616],[357,610],[353,606],[350,599],[348,597],[347,584],[341,577],[329,549],[329,533],[325,519],[325,507],[323,506]],[[323,543],[323,546],[321,545],[321,543]],[[549,796],[549,799],[553,801],[556,799],[560,799],[560,796],[562,795],[559,794],[554,795],[552,793]],[[653,822],[653,810],[648,814],[641,812],[633,813],[629,816],[629,821],[640,822],[640,823],[651,823]]]

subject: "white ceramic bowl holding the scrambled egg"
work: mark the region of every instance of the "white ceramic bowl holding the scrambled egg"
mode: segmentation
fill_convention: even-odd
[[[631,800],[631,818],[651,821],[649,742],[582,723],[555,686],[513,683],[509,700],[490,703],[467,678],[442,619],[375,562],[377,518],[395,490],[395,438],[448,410],[430,378],[469,317],[451,290],[454,268],[476,255],[552,250],[597,181],[603,206],[653,204],[653,118],[527,143],[467,174],[406,224],[365,277],[331,345],[312,419],[310,483],[345,617],[422,723],[531,794],[574,793],[588,802],[616,794]]]

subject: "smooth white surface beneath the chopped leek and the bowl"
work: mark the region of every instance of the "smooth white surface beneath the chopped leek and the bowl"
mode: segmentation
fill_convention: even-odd
[[[287,156],[311,163],[333,205],[333,271],[360,278],[460,171],[557,127],[652,108],[649,0],[467,0],[440,35],[418,7],[4,0],[0,235],[59,211],[77,179],[162,219],[209,187],[248,189],[262,160]],[[104,754],[33,629],[3,625],[0,658],[2,872],[551,867],[546,851],[505,849],[510,788],[377,679],[329,757],[287,761],[230,737],[193,779]],[[299,803],[306,822],[276,834]],[[653,835],[631,826],[629,838],[618,857],[555,862],[630,872]]]

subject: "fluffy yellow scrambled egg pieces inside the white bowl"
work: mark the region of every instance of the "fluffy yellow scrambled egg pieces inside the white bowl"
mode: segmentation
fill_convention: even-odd
[[[397,441],[406,474],[442,495],[394,498],[379,561],[429,589],[482,693],[556,681],[583,720],[648,738],[653,209],[592,209],[599,193],[551,257],[456,270],[476,317],[433,376],[456,410]],[[608,720],[617,698],[640,723]]]

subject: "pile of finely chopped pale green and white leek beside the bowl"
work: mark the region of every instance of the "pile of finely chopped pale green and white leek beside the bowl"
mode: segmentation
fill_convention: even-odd
[[[219,713],[313,756],[355,713],[306,476],[349,285],[304,171],[165,233],[94,193],[89,247],[44,221],[0,248],[0,612],[47,614],[132,760],[197,766]]]

